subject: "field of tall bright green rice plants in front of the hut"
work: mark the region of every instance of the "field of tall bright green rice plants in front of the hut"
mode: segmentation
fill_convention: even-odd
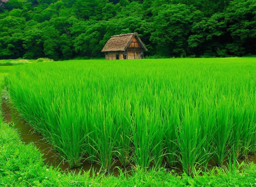
[[[5,78],[21,116],[71,168],[174,167],[256,152],[255,58],[62,61]]]

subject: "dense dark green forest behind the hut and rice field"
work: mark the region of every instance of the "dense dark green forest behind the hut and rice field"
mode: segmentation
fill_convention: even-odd
[[[102,57],[139,33],[148,57],[256,55],[256,0],[0,0],[0,59]]]

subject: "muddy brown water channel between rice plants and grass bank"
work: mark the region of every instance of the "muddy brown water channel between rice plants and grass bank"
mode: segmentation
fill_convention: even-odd
[[[25,144],[33,143],[41,153],[43,153],[44,158],[44,164],[47,164],[49,166],[52,166],[53,168],[60,168],[60,171],[63,172],[81,172],[81,174],[84,173],[84,171],[88,171],[91,169],[90,175],[92,176],[92,168],[95,172],[100,171],[100,165],[97,163],[89,164],[85,159],[82,160],[82,164],[77,168],[69,168],[68,163],[64,162],[59,153],[54,151],[53,146],[49,143],[47,143],[47,140],[40,134],[37,133],[32,127],[28,125],[28,123],[22,119],[22,117],[19,115],[19,112],[14,108],[12,102],[10,101],[9,94],[7,91],[2,92],[2,113],[4,116],[4,121],[6,123],[14,124],[14,128],[18,130],[20,134],[21,140]],[[249,155],[246,159],[239,159],[238,162],[241,163],[242,161],[245,162],[252,162],[256,164],[256,155]],[[215,161],[210,161],[208,165],[208,169],[211,169],[216,166]],[[228,166],[228,162],[226,161],[224,163],[224,166]],[[132,166],[128,166],[126,168],[121,167],[121,163],[117,160],[116,163],[112,167],[112,174],[114,176],[118,176],[120,171],[119,169],[122,169],[123,172],[131,173]],[[174,170],[178,174],[182,173],[182,167],[180,163],[176,164],[175,168],[168,168],[169,170]]]

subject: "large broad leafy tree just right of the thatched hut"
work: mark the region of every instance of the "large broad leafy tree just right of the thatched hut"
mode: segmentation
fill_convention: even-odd
[[[150,41],[162,56],[187,56],[188,36],[192,24],[198,22],[202,13],[185,4],[164,5],[154,18]]]

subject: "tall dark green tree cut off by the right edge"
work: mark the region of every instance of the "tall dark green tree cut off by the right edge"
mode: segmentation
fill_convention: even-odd
[[[256,53],[256,0],[234,0],[226,11],[232,41],[227,44],[230,54],[241,56]]]

